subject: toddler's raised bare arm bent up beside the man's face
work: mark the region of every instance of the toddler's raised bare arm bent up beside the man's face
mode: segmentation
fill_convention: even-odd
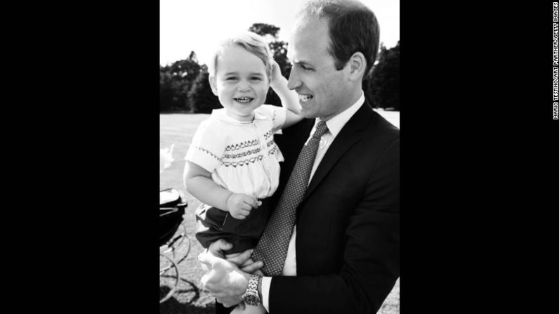
[[[303,119],[301,115],[301,107],[299,106],[299,98],[296,91],[290,91],[287,88],[287,79],[282,76],[280,65],[272,60],[272,78],[270,87],[277,93],[282,100],[282,107],[286,110],[285,122],[283,128],[287,128]]]

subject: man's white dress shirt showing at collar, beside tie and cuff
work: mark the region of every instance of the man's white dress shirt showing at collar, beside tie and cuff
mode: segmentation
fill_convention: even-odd
[[[361,105],[363,105],[364,101],[365,101],[364,94],[363,91],[361,91],[361,96],[359,99],[357,99],[357,102],[355,102],[353,105],[351,105],[351,107],[348,107],[348,109],[344,110],[343,112],[340,112],[338,115],[331,117],[331,119],[329,119],[326,122],[326,126],[328,126],[328,131],[324,133],[324,135],[322,135],[322,137],[320,138],[320,144],[318,145],[317,155],[315,157],[315,163],[313,164],[313,170],[310,171],[310,178],[308,183],[310,183],[310,180],[315,175],[315,171],[318,165],[320,164],[322,157],[324,157],[324,154],[326,154],[328,148],[330,147],[330,144],[334,141],[334,138],[336,138],[338,133],[340,133],[341,129],[343,128],[343,126],[346,125],[349,119],[353,117],[353,115],[355,115],[355,112],[359,110]],[[316,126],[320,121],[321,121],[320,118],[317,118],[315,120],[315,126],[313,126],[313,130],[310,131],[311,136],[315,133]],[[282,270],[282,276],[297,275],[297,261],[295,256],[296,235],[297,235],[297,225],[294,226],[293,233],[291,234],[291,240],[289,240],[289,247],[287,249],[287,256],[285,258],[284,268]],[[272,283],[272,277],[262,278],[262,304],[268,312],[270,312],[269,294],[270,294],[271,283]]]

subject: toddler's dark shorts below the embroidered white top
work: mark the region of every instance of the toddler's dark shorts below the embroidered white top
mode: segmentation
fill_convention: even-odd
[[[224,254],[241,253],[253,249],[262,235],[272,213],[270,197],[261,199],[262,205],[252,209],[244,219],[235,219],[227,211],[201,204],[196,209],[196,238],[207,248],[212,242],[223,239],[233,244]]]

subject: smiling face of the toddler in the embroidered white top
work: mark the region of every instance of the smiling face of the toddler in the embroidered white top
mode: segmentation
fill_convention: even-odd
[[[210,85],[230,117],[252,121],[254,110],[266,99],[270,82],[260,58],[240,46],[229,46],[218,57]]]

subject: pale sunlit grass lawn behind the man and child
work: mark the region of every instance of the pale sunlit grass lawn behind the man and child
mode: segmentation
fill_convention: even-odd
[[[383,117],[395,126],[400,126],[400,112],[384,112],[379,111]],[[174,294],[171,299],[159,305],[160,314],[179,314],[179,313],[214,313],[214,299],[208,292],[202,291],[200,287],[200,277],[204,272],[197,260],[198,254],[202,251],[202,247],[194,237],[195,233],[195,214],[194,211],[199,202],[194,199],[183,186],[183,168],[184,157],[186,151],[192,141],[192,135],[196,128],[204,119],[209,115],[204,114],[167,114],[159,115],[160,131],[159,131],[159,145],[160,148],[169,148],[171,144],[175,144],[173,149],[173,158],[175,161],[171,166],[160,175],[159,188],[176,188],[185,195],[188,201],[184,216],[184,224],[187,228],[187,233],[191,240],[190,253],[186,259],[179,264],[180,273],[183,281],[180,282],[178,292]],[[178,251],[178,259],[185,254],[187,246],[183,245],[182,249]],[[182,254],[182,255],[181,255]],[[168,289],[162,287],[162,290]],[[400,313],[400,280],[388,298],[383,303],[381,314],[395,314]]]

